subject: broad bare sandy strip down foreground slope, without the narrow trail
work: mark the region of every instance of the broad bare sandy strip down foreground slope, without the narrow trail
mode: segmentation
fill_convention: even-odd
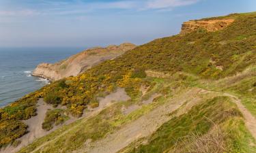
[[[171,120],[173,116],[170,116],[171,112],[178,110],[177,114],[184,114],[187,109],[196,105],[201,101],[201,89],[193,88],[184,92],[182,95],[177,95],[163,105],[160,105],[153,109],[148,114],[145,114],[122,126],[121,129],[115,131],[115,133],[106,135],[99,141],[85,143],[83,148],[76,150],[75,152],[87,152],[87,153],[113,153],[122,150],[133,141],[142,137],[152,135],[162,124]],[[189,103],[186,103],[188,102]],[[186,103],[186,105],[184,105]],[[184,107],[181,107],[184,105]],[[181,109],[179,109],[181,108]]]

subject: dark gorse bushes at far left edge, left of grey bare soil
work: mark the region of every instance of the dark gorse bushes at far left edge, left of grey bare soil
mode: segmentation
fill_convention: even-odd
[[[37,99],[33,96],[32,93],[0,109],[0,148],[8,144],[16,144],[16,139],[27,133],[27,125],[21,120],[36,115]]]

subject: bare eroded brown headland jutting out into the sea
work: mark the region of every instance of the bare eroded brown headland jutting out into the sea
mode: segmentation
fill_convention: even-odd
[[[51,81],[60,80],[71,75],[76,76],[94,65],[120,56],[135,47],[134,44],[126,43],[120,46],[91,48],[55,64],[41,63],[35,68],[33,75],[47,78]]]

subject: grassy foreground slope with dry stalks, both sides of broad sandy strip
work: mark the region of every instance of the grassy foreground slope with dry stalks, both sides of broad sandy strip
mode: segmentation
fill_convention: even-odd
[[[195,87],[205,86],[202,80],[188,75],[145,79],[152,82],[152,88],[144,97],[139,95],[134,101],[115,103],[97,116],[63,126],[50,135],[37,139],[20,152],[60,152],[59,148],[61,152],[85,152],[88,140],[93,144],[97,143],[161,105],[180,103],[183,101],[181,97],[186,99],[186,103],[168,114],[171,120],[160,126],[152,136],[134,141],[120,152],[212,152],[215,148],[218,148],[218,152],[256,151],[253,145],[256,141],[246,129],[244,118],[236,104],[229,97],[210,92],[202,95],[197,92],[191,94],[189,91],[194,91]],[[128,115],[122,113],[124,105],[140,105],[143,99],[154,93],[162,96],[155,99],[154,103],[143,105]],[[191,109],[189,105],[192,106]],[[115,143],[111,145],[115,146]]]

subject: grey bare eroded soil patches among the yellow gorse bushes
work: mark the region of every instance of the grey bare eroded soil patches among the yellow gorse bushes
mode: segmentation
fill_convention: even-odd
[[[108,107],[109,105],[113,104],[113,101],[128,101],[130,97],[126,95],[126,92],[124,88],[117,88],[115,92],[112,92],[111,94],[107,95],[104,98],[99,98],[99,107],[96,107],[94,109],[90,109],[90,112],[85,112],[81,118],[89,118],[90,116],[94,116],[98,114],[102,109],[105,107]],[[61,109],[66,109],[66,107],[57,107]],[[18,152],[20,148],[23,148],[24,146],[27,146],[29,143],[33,142],[35,139],[38,139],[40,137],[43,137],[44,135],[47,135],[56,129],[58,129],[60,126],[54,126],[51,131],[44,131],[42,129],[42,123],[44,122],[44,118],[46,116],[46,112],[48,109],[53,109],[52,105],[48,105],[44,103],[43,99],[38,100],[38,107],[37,107],[37,116],[33,116],[29,120],[24,120],[25,124],[29,126],[28,131],[26,135],[23,135],[23,137],[20,137],[18,140],[21,141],[20,145],[16,148],[10,146],[8,148],[5,148],[5,150],[1,150],[1,153],[12,153],[12,152]],[[65,124],[70,124],[80,118],[74,118],[70,116],[70,120],[67,120]]]

